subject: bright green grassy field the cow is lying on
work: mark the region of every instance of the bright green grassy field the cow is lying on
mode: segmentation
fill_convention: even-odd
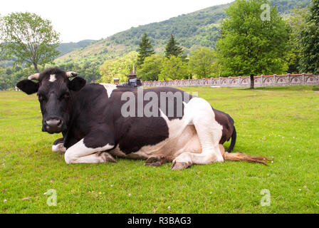
[[[146,167],[122,160],[66,165],[41,132],[36,95],[0,92],[0,213],[318,213],[319,86],[182,88],[229,113],[248,162]],[[226,144],[228,147],[229,142]],[[262,190],[271,204],[262,206]],[[57,205],[44,195],[56,190]]]

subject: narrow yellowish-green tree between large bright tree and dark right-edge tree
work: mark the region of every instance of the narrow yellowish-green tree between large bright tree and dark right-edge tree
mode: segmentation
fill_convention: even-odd
[[[291,16],[288,17],[288,24],[291,26],[291,38],[289,41],[288,73],[299,73],[300,58],[302,56],[300,40],[302,37],[305,19],[308,15],[308,7],[297,6],[291,10]]]

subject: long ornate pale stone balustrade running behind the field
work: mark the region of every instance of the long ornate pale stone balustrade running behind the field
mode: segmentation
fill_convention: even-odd
[[[273,76],[254,76],[255,87],[265,86],[305,86],[319,85],[319,75],[312,73],[286,74]],[[143,81],[145,87],[157,86],[216,86],[216,87],[250,87],[250,77],[202,78],[172,81]]]

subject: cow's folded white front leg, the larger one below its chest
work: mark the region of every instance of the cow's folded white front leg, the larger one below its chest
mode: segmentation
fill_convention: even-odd
[[[105,143],[105,145],[94,147],[89,143],[85,144],[85,138],[83,138],[66,150],[64,159],[67,164],[115,162],[115,158],[112,155],[104,152],[113,148],[113,143]]]

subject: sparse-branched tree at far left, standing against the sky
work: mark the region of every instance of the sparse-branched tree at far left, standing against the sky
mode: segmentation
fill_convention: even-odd
[[[31,13],[12,13],[1,17],[0,40],[6,58],[14,63],[38,65],[53,62],[58,56],[59,33],[53,30],[51,21]]]

